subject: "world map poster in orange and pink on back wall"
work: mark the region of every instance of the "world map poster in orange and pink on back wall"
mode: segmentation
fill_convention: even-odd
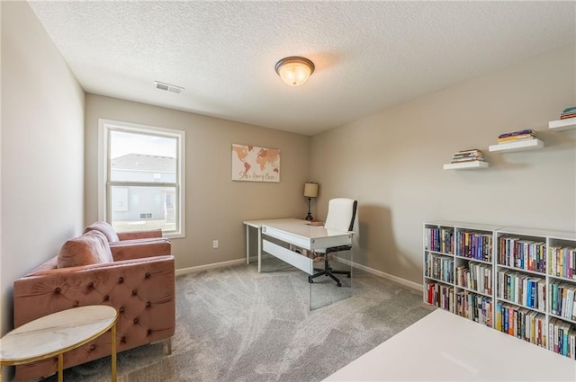
[[[232,181],[280,182],[280,150],[233,143]]]

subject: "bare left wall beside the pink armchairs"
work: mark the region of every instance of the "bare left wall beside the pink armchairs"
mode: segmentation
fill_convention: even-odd
[[[27,2],[2,2],[2,333],[15,279],[84,223],[85,94]]]

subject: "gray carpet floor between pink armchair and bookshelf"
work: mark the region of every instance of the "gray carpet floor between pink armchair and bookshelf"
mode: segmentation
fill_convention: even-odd
[[[124,351],[118,380],[320,381],[432,309],[418,290],[364,271],[354,271],[352,291],[310,310],[302,271],[250,264],[179,276],[172,353],[161,343]],[[64,380],[109,381],[110,357],[67,369]]]

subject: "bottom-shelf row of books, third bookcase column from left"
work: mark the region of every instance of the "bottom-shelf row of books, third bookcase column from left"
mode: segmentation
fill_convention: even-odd
[[[494,329],[543,348],[546,347],[546,317],[526,307],[499,302],[496,305]]]

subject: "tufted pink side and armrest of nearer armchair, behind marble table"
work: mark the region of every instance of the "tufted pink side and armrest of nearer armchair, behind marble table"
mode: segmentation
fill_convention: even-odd
[[[87,305],[113,306],[121,312],[119,338],[135,317],[154,330],[174,331],[174,256],[38,271],[14,281],[14,327]],[[146,313],[148,309],[154,315]],[[162,324],[144,322],[151,316],[160,317]]]

